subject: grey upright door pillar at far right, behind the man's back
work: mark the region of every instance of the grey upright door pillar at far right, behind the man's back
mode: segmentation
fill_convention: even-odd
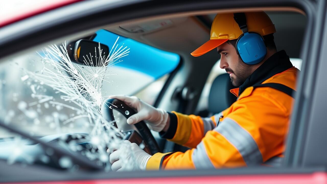
[[[303,59],[298,94],[292,115],[292,122],[285,152],[285,165],[290,167],[307,167],[327,164],[326,123],[323,123],[324,109],[327,108],[324,93],[327,68],[327,20],[326,1],[317,1],[314,20],[308,23],[305,41],[302,46]]]

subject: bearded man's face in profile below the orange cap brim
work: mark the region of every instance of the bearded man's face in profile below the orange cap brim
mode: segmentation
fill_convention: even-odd
[[[217,51],[221,55],[220,68],[225,69],[229,73],[234,86],[242,85],[253,73],[253,68],[243,63],[236,53],[235,47],[231,44],[224,43],[217,47]]]

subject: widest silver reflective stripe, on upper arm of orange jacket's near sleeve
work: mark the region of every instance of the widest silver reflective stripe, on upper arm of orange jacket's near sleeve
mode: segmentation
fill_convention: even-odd
[[[226,118],[214,130],[223,135],[242,155],[245,163],[250,165],[261,164],[262,155],[252,136],[237,122]]]

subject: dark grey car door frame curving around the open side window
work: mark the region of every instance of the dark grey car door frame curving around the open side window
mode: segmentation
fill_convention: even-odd
[[[99,1],[93,1],[95,4]],[[294,104],[294,113],[292,115],[289,136],[285,153],[284,168],[239,168],[239,169],[221,169],[215,171],[165,171],[165,172],[137,172],[138,175],[130,177],[160,177],[160,176],[194,176],[194,175],[248,175],[248,174],[273,174],[273,173],[314,173],[325,172],[323,164],[319,162],[326,158],[318,152],[319,148],[327,150],[327,145],[318,142],[324,138],[323,130],[327,125],[321,126],[323,120],[322,110],[325,104],[319,99],[323,97],[323,90],[326,85],[320,85],[324,79],[323,67],[326,63],[323,59],[326,52],[323,47],[327,46],[326,40],[326,2],[323,0],[230,0],[230,1],[116,1],[114,3],[102,4],[100,7],[93,6],[94,9],[87,9],[90,1],[78,2],[67,7],[52,10],[35,17],[8,25],[0,29],[0,58],[5,58],[14,54],[18,50],[24,50],[33,46],[44,44],[49,40],[73,34],[76,31],[88,30],[90,28],[100,27],[105,24],[126,21],[135,18],[156,16],[170,13],[180,13],[188,11],[214,10],[214,9],[237,9],[237,8],[260,8],[269,7],[293,7],[302,10],[307,15],[307,28],[305,30],[305,39],[302,45],[301,59],[303,60],[303,69],[298,80],[298,90]],[[84,8],[84,13],[70,14],[67,12],[69,7],[79,6]],[[124,11],[125,13],[122,13]],[[61,13],[62,19],[56,20],[56,13]],[[28,25],[35,20],[47,17],[48,22]],[[99,18],[101,17],[101,19]],[[52,21],[51,21],[52,20]],[[88,23],[87,25],[85,23]],[[43,23],[43,24],[42,24]],[[37,26],[37,27],[35,27]],[[11,32],[10,34],[10,31]],[[10,36],[11,35],[11,36]],[[323,38],[323,39],[321,39]],[[22,42],[23,41],[23,42]],[[318,85],[319,84],[319,85]],[[319,109],[320,108],[320,109]],[[320,113],[320,114],[319,114]],[[320,130],[319,130],[320,128]],[[318,131],[318,134],[317,134]],[[316,135],[315,135],[316,134]],[[308,150],[312,149],[312,150]],[[325,153],[325,152],[323,152]],[[326,155],[326,154],[325,154]],[[312,156],[317,156],[312,158]],[[325,159],[327,160],[327,159]],[[307,166],[312,166],[307,167]],[[289,170],[289,167],[293,167]],[[298,169],[301,167],[301,169]],[[238,171],[238,172],[236,172]],[[288,172],[287,172],[288,171]],[[300,172],[301,171],[301,172]],[[155,173],[155,174],[153,174]],[[196,174],[198,173],[198,174]],[[74,176],[74,177],[73,177]],[[91,175],[84,175],[94,179]],[[68,176],[67,176],[68,177]],[[67,178],[66,177],[66,178]],[[78,179],[81,175],[72,175],[70,179]],[[100,178],[103,178],[101,176]],[[121,178],[126,175],[106,174],[105,178]],[[60,178],[57,178],[60,180]],[[61,178],[62,179],[62,178]],[[85,178],[86,179],[86,178]]]

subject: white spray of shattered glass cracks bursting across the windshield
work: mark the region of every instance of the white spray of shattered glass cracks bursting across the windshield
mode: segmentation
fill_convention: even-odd
[[[116,75],[111,74],[108,68],[122,62],[121,59],[128,56],[130,52],[127,46],[117,44],[118,39],[119,37],[107,57],[102,53],[99,43],[98,52],[95,48],[94,55],[90,53],[83,56],[83,65],[73,64],[70,60],[66,42],[59,47],[50,45],[43,48],[43,52],[38,53],[43,63],[40,71],[35,72],[22,68],[25,75],[21,77],[21,80],[29,85],[32,91],[31,97],[36,101],[20,101],[18,103],[18,109],[28,119],[33,119],[34,124],[40,124],[42,121],[49,122],[49,127],[54,129],[58,135],[62,135],[59,138],[59,145],[62,148],[68,148],[70,151],[82,150],[82,155],[87,156],[90,160],[97,160],[97,164],[105,166],[107,171],[110,170],[109,153],[112,151],[112,147],[121,144],[122,137],[124,137],[124,133],[113,125],[114,121],[108,122],[101,115],[101,105],[107,98],[101,92],[102,82],[110,83],[110,75]],[[35,85],[35,83],[38,84]],[[42,93],[44,88],[40,86],[48,86],[54,90],[55,94],[59,95],[59,100],[54,96]],[[41,104],[45,109],[51,108],[51,106],[55,107],[50,117],[41,118]],[[109,108],[114,106],[107,103],[104,105]],[[37,110],[32,107],[36,107]],[[65,109],[71,112],[69,116],[60,113]],[[5,121],[8,123],[13,117],[14,114],[11,113]],[[79,120],[83,120],[82,126],[90,130],[88,134],[62,134],[63,126],[68,125],[68,127],[74,128],[74,123]],[[81,143],[77,141],[83,140],[83,138],[88,140],[87,149],[83,149]],[[13,145],[21,145],[21,139],[16,138],[15,140],[17,141]],[[15,153],[22,154],[19,150],[16,150]],[[9,156],[9,164],[14,163],[15,159],[17,160],[17,154]],[[41,159],[42,162],[49,162],[51,154],[53,153],[47,150],[44,155],[32,160]],[[130,158],[126,160],[125,164],[130,168],[135,168],[134,160],[134,158]],[[71,163],[67,156],[62,156],[58,162],[61,168],[71,170],[78,168]],[[31,163],[31,158],[28,158],[28,163]]]

